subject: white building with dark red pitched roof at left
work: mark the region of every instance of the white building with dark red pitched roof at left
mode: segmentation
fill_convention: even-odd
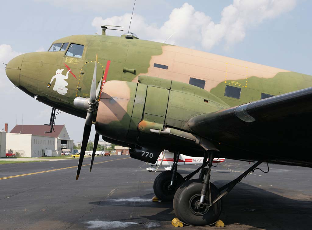
[[[47,153],[60,155],[62,149],[73,149],[65,125],[55,125],[52,133],[46,125],[16,125],[7,134],[6,148],[20,153],[21,157],[42,157]]]

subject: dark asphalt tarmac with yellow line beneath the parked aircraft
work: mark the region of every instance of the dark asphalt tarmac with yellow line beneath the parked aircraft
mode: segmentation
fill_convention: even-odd
[[[91,173],[82,167],[78,181],[77,159],[0,165],[0,229],[174,229],[172,203],[151,201],[154,178],[164,170],[148,172],[128,157],[95,157]],[[221,187],[250,166],[226,159],[213,167],[211,181]],[[312,169],[269,166],[223,199],[223,229],[312,229]]]

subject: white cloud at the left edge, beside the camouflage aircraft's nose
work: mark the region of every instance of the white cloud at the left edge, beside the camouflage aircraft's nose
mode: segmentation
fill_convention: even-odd
[[[0,45],[0,78],[2,79],[2,83],[0,84],[0,88],[5,88],[10,86],[10,80],[7,78],[7,74],[5,73],[5,65],[2,63],[7,64],[12,58],[20,55],[22,53],[13,51],[11,45],[2,44]],[[13,84],[11,83],[13,87]]]

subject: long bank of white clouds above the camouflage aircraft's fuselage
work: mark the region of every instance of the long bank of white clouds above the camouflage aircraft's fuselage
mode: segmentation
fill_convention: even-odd
[[[213,22],[205,13],[196,11],[192,5],[184,3],[182,7],[174,8],[168,21],[160,27],[156,24],[147,24],[143,16],[134,14],[130,31],[136,33],[141,39],[158,42],[164,42],[175,33],[167,43],[197,49],[209,50],[220,42],[225,42],[225,46],[228,47],[241,42],[248,29],[292,10],[296,1],[234,0],[233,4],[222,10],[219,23]],[[124,26],[126,32],[130,17],[130,13],[106,19],[95,17],[92,26],[96,27],[99,33],[102,25]],[[120,35],[120,32],[107,31],[107,34]]]

